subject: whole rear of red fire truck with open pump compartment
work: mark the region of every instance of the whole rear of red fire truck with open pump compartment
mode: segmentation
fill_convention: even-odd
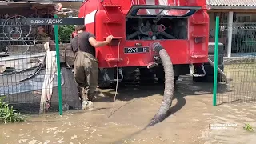
[[[204,78],[208,62],[209,16],[205,0],[85,0],[79,18],[86,31],[99,41],[108,35],[108,46],[96,48],[98,86],[156,76],[164,82],[161,58],[152,44],[159,42],[174,66],[174,78],[192,74]]]

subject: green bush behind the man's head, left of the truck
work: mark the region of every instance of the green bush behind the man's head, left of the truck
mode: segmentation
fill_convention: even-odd
[[[69,43],[71,34],[74,32],[73,25],[58,26],[58,38],[59,42]]]

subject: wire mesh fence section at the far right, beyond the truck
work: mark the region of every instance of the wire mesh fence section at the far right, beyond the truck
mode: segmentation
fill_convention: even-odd
[[[228,82],[226,84],[219,81],[217,103],[255,102],[256,23],[234,23],[233,26],[220,23],[219,27],[219,42],[223,46],[219,46],[218,50],[223,51],[223,58],[226,57],[227,49],[230,47],[231,57],[226,57],[223,61]],[[228,41],[229,31],[232,32],[231,41]]]

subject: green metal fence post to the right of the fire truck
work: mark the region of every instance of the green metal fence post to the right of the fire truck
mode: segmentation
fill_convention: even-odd
[[[218,31],[219,31],[219,17],[216,17],[215,23],[215,47],[214,47],[214,98],[213,104],[216,106],[217,99],[217,77],[218,77]]]

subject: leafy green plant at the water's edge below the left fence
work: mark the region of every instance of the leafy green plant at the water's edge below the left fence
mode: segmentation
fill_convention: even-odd
[[[9,104],[4,102],[4,98],[0,98],[0,122],[24,122],[25,120],[22,115],[17,113],[18,110],[14,110],[13,106],[9,106]]]

